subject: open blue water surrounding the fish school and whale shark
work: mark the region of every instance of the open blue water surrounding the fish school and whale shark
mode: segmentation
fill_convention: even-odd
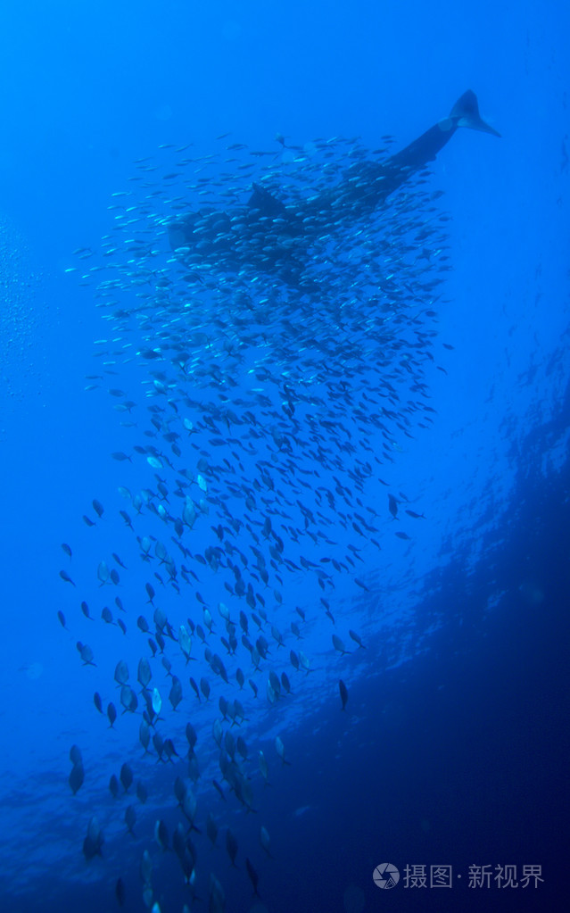
[[[484,0],[469,8],[449,0],[54,0],[3,12],[3,909],[119,910],[120,877],[128,913],[153,903],[161,913],[180,913],[184,904],[205,910],[211,873],[223,885],[228,913],[376,913],[388,907],[502,913],[554,910],[567,902],[569,29],[565,4],[530,0],[498,6]],[[101,367],[111,359],[97,354],[124,341],[136,352],[148,344],[143,331],[132,327],[112,342],[120,334],[106,320],[109,311],[98,306],[98,273],[88,282],[81,279],[89,268],[108,265],[101,238],[119,236],[117,211],[109,207],[118,200],[123,205],[124,197],[111,194],[132,193],[133,205],[140,206],[140,187],[131,179],[147,156],[160,163],[152,180],[163,189],[161,175],[178,153],[160,147],[171,144],[192,144],[188,156],[217,155],[214,171],[222,167],[223,143],[283,154],[276,133],[305,149],[313,148],[306,144],[316,137],[359,137],[367,150],[389,134],[399,150],[446,117],[468,88],[502,139],[458,131],[423,186],[444,193],[433,219],[446,219],[437,224],[448,235],[451,266],[440,274],[442,302],[428,321],[436,333],[433,363],[426,362],[424,376],[431,421],[414,427],[412,437],[389,426],[389,459],[381,468],[374,464],[365,493],[358,495],[361,505],[353,498],[347,510],[338,498],[335,513],[325,501],[328,525],[316,526],[352,554],[355,567],[336,573],[323,562],[327,545],[317,536],[291,551],[285,537],[285,554],[298,563],[300,553],[330,573],[332,582],[323,589],[315,573],[281,568],[283,584],[273,576],[266,590],[260,584],[270,615],[264,634],[272,640],[275,624],[285,633],[285,648],[274,639],[263,674],[254,674],[244,665],[244,650],[237,662],[220,642],[217,604],[227,603],[235,621],[244,607],[249,612],[244,600],[223,592],[222,572],[194,562],[198,581],[183,584],[180,596],[162,589],[152,573],[164,571],[157,562],[140,561],[135,536],[119,515],[121,509],[135,513],[120,486],[140,492],[156,485],[154,470],[133,447],[149,444],[146,405],[162,401],[149,396],[154,362],[123,363],[119,356],[107,365],[111,374]],[[228,139],[216,139],[225,133]],[[344,141],[331,148],[341,170],[350,164]],[[233,167],[235,184],[247,194],[249,179]],[[412,211],[414,205],[420,210],[417,192],[410,191]],[[165,196],[158,198],[157,218],[171,215]],[[399,219],[388,209],[390,230]],[[170,255],[156,224],[163,265]],[[92,256],[81,260],[74,255],[81,249]],[[121,253],[114,262],[117,257],[126,260]],[[426,262],[427,280],[433,278],[430,269]],[[139,289],[136,278],[124,279],[121,306],[128,307]],[[293,306],[299,293],[290,294]],[[189,286],[187,296],[190,306],[202,306],[199,287]],[[267,326],[271,335],[271,320]],[[100,340],[109,345],[94,346]],[[400,369],[414,352],[400,350]],[[204,363],[209,357],[204,350]],[[369,378],[376,376],[375,365],[368,369]],[[243,388],[232,392],[236,400],[248,383],[244,372]],[[95,389],[86,389],[90,385]],[[109,395],[109,388],[137,403],[132,414],[113,408],[122,400]],[[213,381],[209,389],[213,398]],[[403,396],[409,398],[414,394]],[[121,425],[126,419],[137,425]],[[341,425],[339,418],[338,429],[326,430],[331,446],[342,436]],[[378,457],[388,447],[379,435],[353,443],[365,460],[373,458],[367,447]],[[205,438],[200,446],[208,446]],[[118,451],[133,462],[110,456]],[[185,450],[180,466],[193,471],[198,457]],[[244,458],[245,473],[254,473],[255,458]],[[351,466],[347,458],[340,480],[354,489]],[[306,451],[296,455],[296,467],[308,474],[320,464]],[[314,483],[314,476],[299,477]],[[234,510],[231,488],[220,484]],[[197,489],[194,484],[196,501]],[[397,521],[390,517],[389,492],[399,498]],[[277,495],[265,491],[264,497],[276,528]],[[93,498],[105,512],[89,529],[82,515],[97,519]],[[171,501],[181,507],[178,498]],[[406,508],[425,517],[412,519]],[[380,550],[343,523],[340,512],[354,509],[378,526]],[[203,551],[218,522],[212,507],[192,532],[185,531],[186,546]],[[292,523],[302,525],[302,507]],[[173,530],[161,532],[166,528],[160,524],[144,509],[136,534],[162,535],[180,568],[185,559],[171,545]],[[409,539],[397,538],[395,530]],[[250,532],[241,530],[233,541],[253,562]],[[264,541],[260,529],[256,534]],[[347,551],[355,540],[358,557]],[[71,561],[62,542],[73,550]],[[113,551],[128,571],[113,565]],[[119,571],[118,587],[98,586],[102,560]],[[76,588],[60,579],[61,569]],[[183,759],[187,720],[198,733],[201,777],[192,790],[202,834],[192,839],[201,900],[193,907],[176,855],[162,852],[153,837],[157,820],[170,834],[181,820],[173,784],[177,775],[187,775],[187,765],[176,758],[161,763],[156,752],[143,756],[140,694],[138,712],[119,714],[116,731],[93,704],[98,691],[105,707],[112,700],[120,710],[116,664],[129,663],[134,685],[140,656],[150,656],[148,635],[137,627],[143,614],[154,630],[144,590],[150,580],[175,632],[189,616],[203,624],[201,598],[210,604],[212,651],[230,671],[231,684],[224,687],[202,658],[198,638],[192,643],[196,659],[188,666],[178,645],[169,642],[166,653],[183,687],[174,712],[166,672],[160,660],[152,665],[152,685],[168,708],[162,736],[171,737]],[[117,594],[127,609],[126,635],[100,620],[105,605],[120,616]],[[81,614],[82,600],[96,621]],[[295,606],[306,612],[301,642],[290,630],[291,621],[300,624]],[[57,621],[58,611],[67,630]],[[349,629],[366,649],[358,649]],[[342,638],[348,656],[333,648],[332,634]],[[97,666],[82,666],[77,641],[93,648]],[[311,674],[295,672],[287,660],[299,648],[310,659]],[[243,693],[238,690],[238,665],[246,683],[255,678],[257,698],[247,684]],[[292,694],[272,706],[265,683],[274,667],[279,675],[286,670]],[[189,676],[210,681],[208,705],[198,704]],[[348,688],[345,712],[340,678]],[[255,813],[246,813],[227,783],[225,802],[212,787],[212,778],[222,782],[212,739],[221,695],[242,700],[247,711],[246,722],[232,732],[235,738],[242,734],[248,747]],[[278,735],[290,764],[276,755]],[[75,796],[67,782],[74,744],[85,765],[85,782]],[[260,749],[269,765],[266,787],[257,765]],[[117,800],[109,792],[110,775],[119,775],[125,761],[135,782],[148,789],[145,805],[134,788],[130,798],[122,788]],[[124,824],[130,803],[137,813],[135,837]],[[214,849],[205,834],[208,813],[220,828]],[[86,861],[82,845],[94,815],[105,844],[101,857]],[[260,845],[261,825],[271,836],[272,858]],[[225,849],[228,827],[238,842],[237,869]],[[145,850],[153,861],[147,907],[140,878]],[[246,857],[259,875],[261,900],[252,897]],[[402,879],[390,892],[372,880],[382,862],[398,866]],[[540,865],[544,882],[536,888],[493,882],[468,887],[470,866],[494,871],[505,864],[517,866],[519,880],[523,866]],[[405,867],[421,865],[428,873],[430,866],[453,866],[451,890],[404,887]]]

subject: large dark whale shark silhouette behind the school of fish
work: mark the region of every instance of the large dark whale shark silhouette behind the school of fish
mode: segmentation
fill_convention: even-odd
[[[200,209],[168,226],[171,249],[189,268],[208,264],[222,271],[261,271],[296,289],[310,290],[306,277],[311,245],[381,207],[391,194],[432,162],[462,127],[501,136],[482,120],[475,93],[463,92],[446,118],[384,161],[347,168],[337,184],[294,204],[253,184],[244,206]]]

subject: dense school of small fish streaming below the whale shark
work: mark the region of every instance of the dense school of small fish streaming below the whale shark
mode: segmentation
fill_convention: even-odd
[[[109,833],[130,841],[153,913],[168,905],[167,849],[184,910],[195,897],[223,910],[232,866],[253,895],[269,892],[264,786],[295,764],[283,708],[319,676],[336,711],[349,709],[351,669],[370,651],[337,587],[373,611],[384,543],[423,521],[390,468],[432,421],[449,268],[427,173],[366,205],[389,137],[375,152],[218,142],[214,155],[168,148],[137,163],[101,251],[76,252],[105,326],[88,389],[107,391],[119,416],[109,459],[124,480],[86,509],[93,557],[78,574],[62,543],[58,618],[96,683],[101,739],[130,720],[139,738],[109,762],[115,812],[101,794],[83,854],[105,859]],[[121,544],[106,532],[109,501]],[[109,630],[104,656],[94,623]],[[78,745],[69,761],[80,796]],[[254,845],[242,845],[239,810],[257,813]],[[133,879],[106,870],[122,906]]]

